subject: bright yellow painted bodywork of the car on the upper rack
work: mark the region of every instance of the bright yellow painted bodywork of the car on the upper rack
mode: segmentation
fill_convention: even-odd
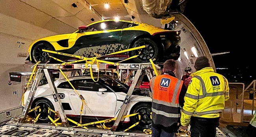
[[[102,21],[98,21],[98,22],[94,22],[91,23],[87,26],[93,25],[95,23],[100,23],[100,22],[109,22],[109,21],[114,21],[114,20],[102,20]],[[28,52],[30,55],[30,61],[32,61],[32,56],[31,56],[31,49],[33,47],[33,45],[35,43],[37,43],[38,41],[48,41],[50,42],[55,50],[63,50],[63,49],[70,49],[76,42],[76,40],[78,38],[80,38],[81,36],[84,35],[91,35],[91,34],[98,34],[98,33],[108,33],[108,32],[114,32],[114,31],[129,31],[129,30],[133,30],[133,31],[146,31],[148,33],[150,33],[151,35],[156,33],[156,32],[164,32],[164,31],[168,31],[165,29],[161,29],[160,27],[155,27],[152,25],[148,25],[145,23],[139,23],[139,22],[132,22],[132,21],[126,21],[126,20],[120,20],[121,22],[130,22],[130,23],[135,23],[137,24],[137,26],[134,27],[128,27],[128,28],[124,28],[124,29],[115,29],[115,30],[107,30],[107,31],[91,31],[91,32],[83,32],[83,33],[71,33],[71,34],[60,34],[60,35],[55,35],[55,36],[49,36],[49,37],[45,37],[45,38],[41,38],[38,39],[36,41],[34,41],[30,47],[28,48]],[[61,47],[57,41],[59,40],[65,40],[65,39],[69,39],[68,43],[69,43],[69,47]]]

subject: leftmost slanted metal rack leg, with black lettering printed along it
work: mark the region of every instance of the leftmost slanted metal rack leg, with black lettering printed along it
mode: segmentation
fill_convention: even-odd
[[[39,85],[40,80],[43,78],[43,72],[41,72],[42,69],[38,69],[35,80],[33,81],[33,85],[31,87],[31,90],[29,91],[28,99],[26,100],[25,107],[22,110],[21,117],[19,119],[19,123],[24,123],[26,120],[26,116],[28,115],[28,111],[30,109],[30,106],[32,105],[33,98],[35,96],[35,92],[37,90],[37,87]]]

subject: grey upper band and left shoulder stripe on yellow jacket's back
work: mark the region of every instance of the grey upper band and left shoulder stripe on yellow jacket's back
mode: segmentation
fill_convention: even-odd
[[[214,96],[222,96],[222,95],[224,95],[224,91],[207,93],[203,79],[200,76],[195,76],[195,78],[200,80],[200,83],[201,83],[201,86],[202,86],[202,92],[203,92],[203,95],[199,95],[198,99],[202,99],[204,97],[214,97]],[[191,95],[191,96],[193,96],[193,95]],[[190,98],[192,98],[192,97],[190,97]],[[192,99],[194,99],[194,98],[192,98]]]

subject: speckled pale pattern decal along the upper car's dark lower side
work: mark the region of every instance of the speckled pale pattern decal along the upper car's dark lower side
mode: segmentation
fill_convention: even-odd
[[[93,47],[85,47],[77,50],[74,55],[77,56],[84,56],[84,57],[93,57],[95,56],[94,53],[106,55],[109,53],[117,52],[120,50],[128,49],[128,46],[123,44],[108,44],[108,45],[100,45],[100,46],[93,46]]]

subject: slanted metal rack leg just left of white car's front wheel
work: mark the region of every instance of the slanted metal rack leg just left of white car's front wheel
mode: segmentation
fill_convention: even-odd
[[[131,84],[131,86],[130,86],[130,88],[128,90],[128,93],[127,93],[127,95],[126,95],[126,97],[124,99],[124,102],[123,102],[123,104],[121,106],[121,109],[119,111],[119,114],[117,115],[117,119],[116,119],[114,125],[112,126],[112,130],[111,131],[113,131],[113,132],[115,132],[115,130],[117,130],[117,126],[120,123],[120,121],[121,121],[121,119],[122,119],[122,117],[124,115],[124,112],[126,110],[126,106],[129,103],[129,101],[130,101],[130,97],[132,96],[132,92],[134,91],[134,88],[137,85],[137,81],[138,81],[139,77],[141,76],[141,72],[142,72],[142,69],[138,69],[136,74],[135,74],[134,80],[132,81],[132,84]]]

